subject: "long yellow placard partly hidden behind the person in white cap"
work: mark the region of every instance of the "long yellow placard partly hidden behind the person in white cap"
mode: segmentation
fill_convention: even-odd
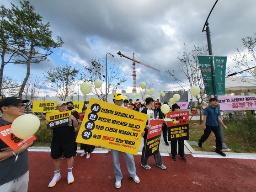
[[[58,101],[33,101],[32,112],[59,112],[56,109]],[[68,101],[65,101],[68,102]],[[85,101],[72,101],[74,103],[74,110],[82,112]]]

